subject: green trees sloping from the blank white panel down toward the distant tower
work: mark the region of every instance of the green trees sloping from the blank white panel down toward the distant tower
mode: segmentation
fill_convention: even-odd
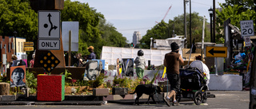
[[[79,21],[78,53],[89,55],[87,47],[94,46],[97,58],[100,58],[103,45],[123,47],[126,37],[122,37],[113,25],[107,24],[104,15],[96,12],[88,3],[64,2],[62,21]]]

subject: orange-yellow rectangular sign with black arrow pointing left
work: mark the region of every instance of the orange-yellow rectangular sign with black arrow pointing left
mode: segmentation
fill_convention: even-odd
[[[206,46],[207,57],[226,57],[227,47]]]

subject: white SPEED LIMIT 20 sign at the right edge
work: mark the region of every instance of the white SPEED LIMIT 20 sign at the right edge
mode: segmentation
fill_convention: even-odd
[[[247,37],[247,36],[254,36],[254,21],[248,20],[248,21],[240,21],[241,26],[241,36]]]

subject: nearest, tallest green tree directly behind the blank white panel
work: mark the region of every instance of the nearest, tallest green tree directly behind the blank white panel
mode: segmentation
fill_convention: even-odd
[[[70,2],[70,0],[64,2],[64,9],[61,12],[62,21],[79,21],[78,53],[89,55],[86,48],[92,45],[97,58],[99,58],[102,51],[102,38],[97,25],[99,19],[104,18],[103,14],[90,8],[88,3]]]

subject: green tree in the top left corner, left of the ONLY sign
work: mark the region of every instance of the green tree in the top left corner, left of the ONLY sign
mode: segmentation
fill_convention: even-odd
[[[37,41],[38,15],[31,10],[29,2],[22,0],[0,0],[0,35],[26,37],[26,41]]]

